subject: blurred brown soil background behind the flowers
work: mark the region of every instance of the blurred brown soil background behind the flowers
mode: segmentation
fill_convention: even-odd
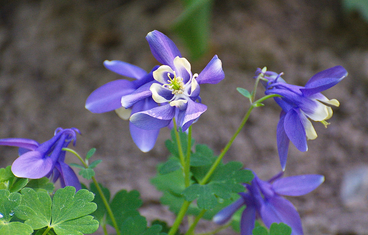
[[[82,135],[74,149],[85,153],[97,148],[95,157],[103,160],[99,181],[112,193],[137,189],[144,201],[141,213],[149,221],[160,218],[171,224],[174,217],[159,205],[161,194],[149,184],[156,164],[168,156],[164,140],[169,129],[162,129],[153,150],[142,153],[132,142],[127,121],[113,111],[93,114],[84,104],[93,90],[122,78],[103,67],[104,60],[126,61],[146,71],[158,64],[145,40],[154,29],[173,39],[186,57],[183,44],[169,30],[182,10],[179,0],[2,0],[0,138],[44,142],[57,127],[78,128]],[[235,88],[251,90],[257,67],[284,72],[283,78],[296,85],[335,65],[347,69],[346,79],[323,92],[341,104],[333,108],[331,125],[325,129],[314,124],[319,136],[308,142],[308,152],[290,145],[285,174],[325,175],[325,183],[315,191],[289,197],[306,235],[368,234],[367,195],[357,196],[364,195],[368,179],[358,178],[362,189],[351,192],[352,204],[340,198],[344,174],[368,165],[367,22],[356,13],[345,13],[337,0],[216,0],[210,52],[191,63],[192,71],[199,73],[214,54],[222,60],[226,77],[217,85],[201,86],[208,110],[194,125],[193,137],[216,154],[248,107]],[[243,162],[262,179],[280,171],[276,148],[280,107],[272,100],[265,104],[252,112],[224,157],[225,162]],[[0,147],[0,167],[16,157],[16,148]],[[76,160],[67,156],[66,161]],[[201,222],[197,232],[211,228],[212,222]],[[226,229],[219,234],[237,233]]]

